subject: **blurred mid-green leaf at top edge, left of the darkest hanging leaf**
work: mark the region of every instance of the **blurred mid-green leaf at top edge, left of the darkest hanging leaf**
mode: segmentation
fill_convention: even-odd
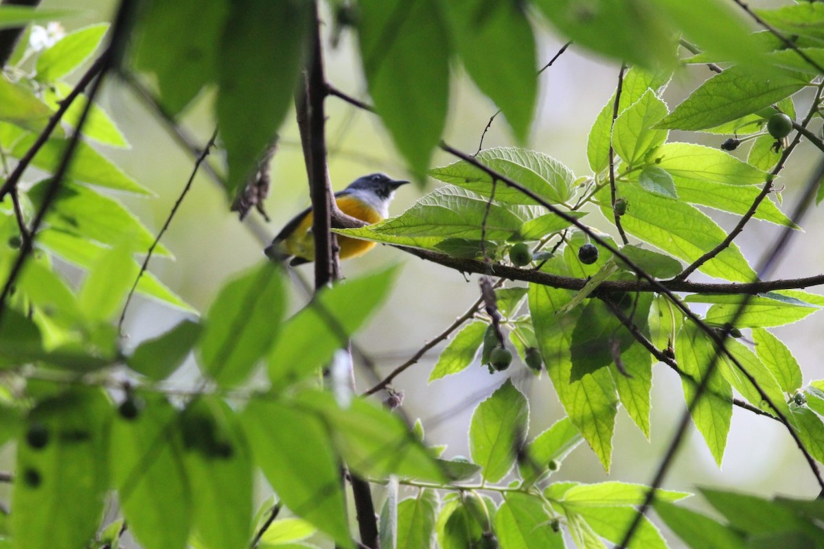
[[[221,49],[216,44],[228,3],[151,0],[143,6],[136,33],[135,66],[154,73],[161,92],[158,99],[171,114],[180,113],[203,86],[217,78],[215,67]]]

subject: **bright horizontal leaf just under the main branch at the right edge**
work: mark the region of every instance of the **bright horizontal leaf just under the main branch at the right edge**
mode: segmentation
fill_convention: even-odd
[[[733,323],[737,328],[770,328],[798,322],[820,309],[806,301],[786,297],[776,292],[759,295],[693,294],[691,303],[714,303],[707,311],[705,322],[715,326]],[[747,306],[741,309],[744,303]],[[740,312],[738,309],[741,309]]]

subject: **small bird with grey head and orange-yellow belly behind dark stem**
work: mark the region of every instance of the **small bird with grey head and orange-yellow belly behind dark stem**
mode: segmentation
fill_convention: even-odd
[[[341,212],[366,221],[370,225],[389,216],[389,202],[405,179],[392,179],[386,174],[368,174],[355,179],[344,190],[335,193],[335,202]],[[294,216],[264,250],[276,261],[288,261],[297,266],[315,260],[315,240],[312,235],[311,207]],[[354,258],[366,254],[375,243],[338,235],[339,258]]]

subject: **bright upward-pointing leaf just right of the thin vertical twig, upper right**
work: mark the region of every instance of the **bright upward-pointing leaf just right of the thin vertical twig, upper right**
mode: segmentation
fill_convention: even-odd
[[[612,141],[618,156],[634,166],[644,160],[647,151],[663,145],[669,132],[653,126],[668,113],[667,105],[647,89],[616,119]]]

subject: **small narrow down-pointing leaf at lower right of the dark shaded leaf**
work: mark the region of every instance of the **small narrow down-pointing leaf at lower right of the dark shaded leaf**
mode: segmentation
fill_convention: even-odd
[[[653,388],[653,356],[640,343],[634,343],[621,353],[621,363],[627,375],[611,369],[618,388],[618,398],[630,419],[649,440],[649,394]]]

